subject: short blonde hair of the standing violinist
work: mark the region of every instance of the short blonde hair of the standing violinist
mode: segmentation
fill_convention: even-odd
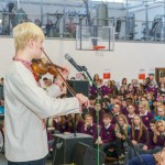
[[[18,24],[13,29],[15,52],[18,52],[19,50],[23,50],[26,46],[30,38],[37,40],[38,37],[44,40],[44,33],[34,23],[24,22]]]

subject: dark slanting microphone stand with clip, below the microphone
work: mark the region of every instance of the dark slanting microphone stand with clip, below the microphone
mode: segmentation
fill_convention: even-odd
[[[87,70],[87,68],[86,68],[86,66],[79,66],[79,67],[80,67],[81,70],[82,70],[81,74],[84,74],[85,76],[87,75],[86,77],[89,78],[88,80],[91,81],[92,85],[95,86],[95,88],[97,89],[97,92],[98,92],[99,96],[101,97],[101,100],[105,102],[105,105],[107,106],[109,112],[111,113],[111,116],[114,118],[117,124],[119,125],[119,129],[120,129],[121,133],[125,136],[125,141],[127,141],[128,145],[134,150],[136,156],[138,156],[139,160],[140,160],[140,165],[144,165],[144,162],[143,162],[142,157],[140,156],[139,152],[138,152],[136,148],[134,147],[132,141],[129,139],[129,136],[128,136],[128,135],[125,134],[125,132],[123,131],[123,129],[122,129],[122,127],[120,125],[119,121],[117,120],[116,116],[114,116],[114,114],[112,113],[112,111],[110,110],[110,108],[109,108],[109,106],[108,106],[106,99],[103,98],[103,96],[102,96],[102,94],[100,92],[99,88],[97,87],[96,82],[92,80],[90,74],[88,73],[88,70]]]

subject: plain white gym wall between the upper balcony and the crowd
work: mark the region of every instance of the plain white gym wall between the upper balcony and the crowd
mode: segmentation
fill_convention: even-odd
[[[45,40],[45,52],[58,65],[70,64],[64,58],[65,53],[79,64],[85,65],[89,73],[99,73],[110,69],[111,79],[121,81],[123,77],[138,78],[140,69],[165,66],[165,45],[155,43],[124,43],[116,42],[114,52],[76,51],[75,41]],[[0,37],[0,77],[4,76],[14,55],[13,40]],[[70,66],[72,67],[72,66]],[[70,76],[76,75],[72,67]]]

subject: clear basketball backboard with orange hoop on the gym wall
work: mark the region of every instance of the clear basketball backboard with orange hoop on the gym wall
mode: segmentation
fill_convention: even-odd
[[[91,35],[91,31],[96,34]],[[114,28],[76,26],[76,48],[80,51],[114,51]]]

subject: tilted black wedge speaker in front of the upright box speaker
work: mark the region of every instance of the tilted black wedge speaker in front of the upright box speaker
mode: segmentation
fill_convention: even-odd
[[[106,154],[99,152],[99,165],[105,164]],[[81,142],[76,143],[74,147],[73,163],[76,165],[97,165],[98,151]]]

